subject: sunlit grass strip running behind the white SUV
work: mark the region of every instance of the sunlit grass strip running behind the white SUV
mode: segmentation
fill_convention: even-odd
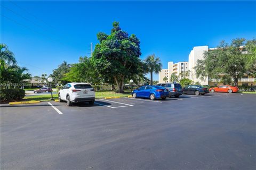
[[[105,97],[127,97],[131,95],[131,91],[125,91],[123,94],[116,93],[115,91],[95,91],[95,98],[105,98]],[[58,94],[52,94],[54,99],[58,99]],[[23,100],[35,101],[35,100],[49,100],[51,95],[33,95],[25,96]]]

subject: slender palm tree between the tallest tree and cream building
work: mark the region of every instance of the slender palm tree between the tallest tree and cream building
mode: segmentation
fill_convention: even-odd
[[[162,63],[159,57],[156,57],[155,54],[149,55],[145,59],[146,65],[150,72],[150,85],[153,85],[153,72],[158,73],[162,70]]]

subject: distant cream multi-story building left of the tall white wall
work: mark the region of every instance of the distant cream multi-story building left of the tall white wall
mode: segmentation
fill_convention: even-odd
[[[159,72],[158,81],[159,83],[165,82],[163,79],[166,77],[166,82],[170,82],[172,73],[177,75],[177,77],[180,79],[180,75],[185,74],[186,71],[188,71],[188,62],[178,62],[174,64],[173,62],[168,62],[168,69],[162,69],[162,71]]]

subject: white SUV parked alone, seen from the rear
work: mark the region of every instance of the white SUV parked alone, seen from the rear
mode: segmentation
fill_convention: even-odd
[[[89,83],[67,83],[59,91],[59,100],[67,101],[67,105],[72,103],[89,101],[92,105],[95,100],[95,92]]]

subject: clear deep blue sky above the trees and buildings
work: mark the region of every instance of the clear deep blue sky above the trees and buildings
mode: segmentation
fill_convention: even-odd
[[[141,58],[188,61],[194,46],[256,37],[255,1],[1,1],[1,43],[20,66],[49,75],[64,60],[90,55],[113,21],[141,41]],[[157,74],[154,80],[158,80]]]

